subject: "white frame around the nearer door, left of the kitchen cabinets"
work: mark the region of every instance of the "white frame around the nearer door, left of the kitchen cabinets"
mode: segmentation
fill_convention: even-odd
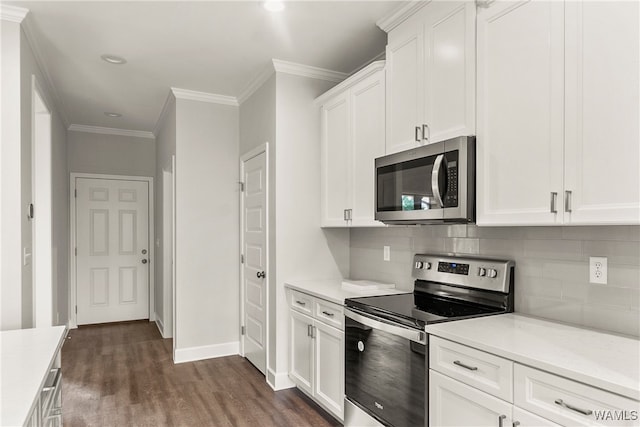
[[[245,154],[240,156],[240,180],[239,183],[242,185],[244,183],[244,164],[250,159],[259,156],[260,154],[265,154],[265,265],[267,267],[267,276],[265,279],[265,340],[264,340],[264,351],[265,351],[265,379],[267,378],[267,373],[269,372],[269,284],[271,283],[271,272],[269,271],[269,143],[265,142],[256,148],[249,150]],[[240,192],[240,253],[243,253],[244,248],[244,191]],[[238,259],[240,261],[240,259]],[[240,328],[246,326],[244,324],[244,263],[239,262],[240,268]],[[244,338],[245,335],[240,332],[240,355],[245,357],[244,355]]]

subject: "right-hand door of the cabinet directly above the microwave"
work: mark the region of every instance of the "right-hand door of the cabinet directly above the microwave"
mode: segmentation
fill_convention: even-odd
[[[475,3],[432,2],[424,16],[427,142],[475,135]]]

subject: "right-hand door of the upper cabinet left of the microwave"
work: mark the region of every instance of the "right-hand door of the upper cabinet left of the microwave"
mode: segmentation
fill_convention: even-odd
[[[384,155],[384,70],[351,88],[351,226],[375,221],[375,158]]]

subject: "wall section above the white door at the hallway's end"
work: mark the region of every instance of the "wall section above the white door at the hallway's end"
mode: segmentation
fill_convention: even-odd
[[[68,134],[71,172],[151,177],[156,174],[154,139],[77,131]]]

